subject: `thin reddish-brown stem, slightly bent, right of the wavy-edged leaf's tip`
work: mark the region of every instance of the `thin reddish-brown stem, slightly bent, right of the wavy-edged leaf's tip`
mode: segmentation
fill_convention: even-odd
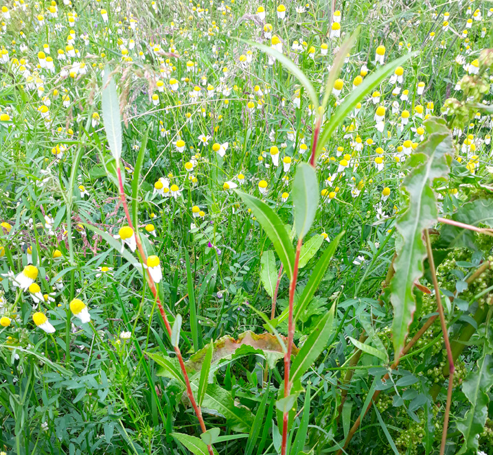
[[[445,349],[447,350],[447,358],[449,365],[447,404],[445,406],[444,430],[442,431],[442,444],[440,445],[440,455],[444,455],[445,445],[447,442],[448,417],[450,415],[450,404],[452,403],[452,389],[454,382],[455,365],[454,365],[454,356],[452,355],[452,349],[450,348],[450,340],[448,340],[447,323],[445,320],[444,307],[442,306],[442,297],[440,296],[440,288],[438,286],[437,274],[435,272],[435,261],[433,260],[433,250],[431,249],[430,234],[428,233],[428,229],[424,230],[424,238],[426,240],[426,252],[428,253],[428,264],[430,265],[433,288],[435,288],[435,299],[437,299],[438,314],[440,316],[440,324],[442,325],[442,333],[444,334],[444,343],[445,343]]]

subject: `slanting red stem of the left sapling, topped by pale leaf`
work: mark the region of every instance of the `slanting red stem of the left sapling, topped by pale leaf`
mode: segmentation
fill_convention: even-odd
[[[139,235],[137,231],[135,231],[132,218],[130,218],[130,212],[128,211],[128,206],[126,203],[126,197],[125,197],[125,189],[123,186],[123,180],[122,180],[122,172],[119,167],[119,162],[117,161],[117,176],[118,176],[118,183],[119,183],[119,193],[120,193],[120,199],[122,200],[122,205],[124,207],[125,215],[127,218],[128,226],[130,226],[130,229],[133,230],[133,233],[135,235],[135,242],[137,243],[137,248],[139,249],[139,255],[142,259],[142,263],[144,266],[147,266],[147,257],[146,253],[144,252],[144,248],[142,247],[142,244],[140,242]],[[159,295],[157,293],[156,285],[154,283],[154,280],[150,276],[149,269],[145,267],[147,270],[146,274],[146,281],[149,285],[150,291],[152,292],[152,295],[154,296],[154,299],[156,299],[157,302],[157,307],[159,308],[159,313],[161,313],[161,318],[163,318],[164,325],[166,327],[166,330],[168,331],[168,335],[171,337],[171,325],[170,321],[168,320],[168,316],[166,316],[166,313],[164,311],[163,304],[161,303],[161,300],[159,299]],[[192,408],[194,408],[195,414],[198,419],[198,423],[200,424],[200,430],[202,430],[203,433],[207,430],[205,428],[205,423],[204,419],[202,417],[202,411],[200,410],[200,406],[198,406],[197,402],[195,401],[194,393],[192,392],[192,386],[190,386],[190,380],[188,378],[188,373],[187,369],[185,368],[185,362],[183,362],[183,355],[181,355],[180,348],[178,346],[174,347],[174,352],[176,353],[176,357],[178,358],[178,362],[180,364],[180,369],[181,372],[183,373],[183,378],[185,380],[185,386],[187,388],[187,397],[190,399],[190,403],[192,404]],[[214,450],[212,450],[212,446],[209,444],[207,445],[207,450],[209,452],[209,455],[214,455]]]

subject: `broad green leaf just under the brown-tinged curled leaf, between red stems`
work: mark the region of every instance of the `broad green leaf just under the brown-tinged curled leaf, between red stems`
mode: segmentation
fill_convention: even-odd
[[[192,391],[196,393],[197,385],[192,382]],[[208,384],[202,402],[203,412],[214,410],[225,417],[233,431],[248,433],[253,423],[253,414],[243,406],[236,406],[231,393],[217,384]]]

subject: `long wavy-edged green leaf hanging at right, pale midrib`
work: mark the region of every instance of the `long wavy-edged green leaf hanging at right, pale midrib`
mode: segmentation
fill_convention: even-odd
[[[390,283],[393,347],[396,359],[400,357],[404,348],[416,309],[413,287],[415,281],[423,275],[423,261],[426,257],[422,233],[438,216],[433,181],[448,175],[446,154],[453,153],[452,135],[445,122],[442,119],[431,118],[424,124],[430,135],[409,157],[414,168],[402,184],[403,189],[409,194],[409,205],[398,218],[396,225],[402,235],[402,242],[394,261],[395,272]]]

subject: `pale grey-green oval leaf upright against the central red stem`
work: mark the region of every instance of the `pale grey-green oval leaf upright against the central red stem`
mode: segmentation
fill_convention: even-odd
[[[295,229],[299,239],[305,237],[312,227],[319,207],[319,183],[317,174],[308,163],[299,163],[293,181],[293,205]]]

